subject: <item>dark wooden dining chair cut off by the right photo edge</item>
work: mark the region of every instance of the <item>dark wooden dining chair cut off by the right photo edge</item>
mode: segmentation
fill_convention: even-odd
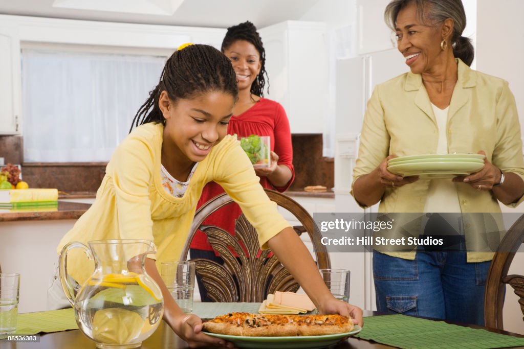
[[[524,215],[509,228],[489,267],[484,297],[486,327],[503,330],[502,310],[507,284],[511,285],[515,294],[520,297],[520,310],[524,314],[524,276],[508,275],[509,266],[515,257],[515,253],[523,243]],[[524,318],[522,320],[524,321]]]

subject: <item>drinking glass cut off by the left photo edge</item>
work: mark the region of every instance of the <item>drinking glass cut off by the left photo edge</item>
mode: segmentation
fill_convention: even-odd
[[[0,273],[0,334],[16,332],[20,274]]]

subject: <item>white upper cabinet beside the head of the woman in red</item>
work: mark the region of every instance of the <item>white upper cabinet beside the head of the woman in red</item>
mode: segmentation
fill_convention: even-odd
[[[285,21],[259,33],[269,76],[266,97],[286,109],[291,133],[322,133],[328,110],[326,25]]]

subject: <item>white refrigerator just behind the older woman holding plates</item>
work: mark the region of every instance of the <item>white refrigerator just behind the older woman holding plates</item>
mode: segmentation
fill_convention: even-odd
[[[367,100],[375,85],[408,70],[405,60],[396,49],[337,60],[334,181],[336,211],[363,212],[350,195],[350,190]],[[377,206],[367,210],[376,212]],[[372,255],[332,253],[331,259],[333,265],[351,269],[350,301],[364,309],[376,309]]]

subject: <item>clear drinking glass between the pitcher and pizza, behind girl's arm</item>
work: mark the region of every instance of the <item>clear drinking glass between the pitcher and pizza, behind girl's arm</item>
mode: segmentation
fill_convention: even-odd
[[[195,287],[195,262],[162,262],[160,268],[162,280],[171,296],[184,313],[191,313]]]

